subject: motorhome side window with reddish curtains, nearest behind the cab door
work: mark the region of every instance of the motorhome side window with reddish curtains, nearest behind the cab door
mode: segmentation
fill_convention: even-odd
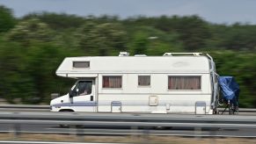
[[[121,88],[121,76],[103,76],[103,88]]]

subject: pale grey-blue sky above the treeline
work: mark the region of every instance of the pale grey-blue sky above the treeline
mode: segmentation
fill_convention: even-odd
[[[0,0],[17,18],[32,12],[157,17],[198,15],[216,24],[256,25],[256,0]]]

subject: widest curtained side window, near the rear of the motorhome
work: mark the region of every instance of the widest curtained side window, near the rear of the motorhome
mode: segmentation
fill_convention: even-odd
[[[169,76],[168,90],[201,90],[201,76]]]

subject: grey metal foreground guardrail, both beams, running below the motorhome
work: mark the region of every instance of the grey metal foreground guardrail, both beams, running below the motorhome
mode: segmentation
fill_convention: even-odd
[[[0,112],[4,124],[256,128],[256,116],[83,112]]]

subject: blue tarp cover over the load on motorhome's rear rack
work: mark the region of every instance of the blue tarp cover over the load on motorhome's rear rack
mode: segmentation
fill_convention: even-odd
[[[233,76],[220,76],[219,86],[221,87],[224,100],[230,100],[230,103],[237,106],[240,90],[238,83],[235,81],[235,78]]]

